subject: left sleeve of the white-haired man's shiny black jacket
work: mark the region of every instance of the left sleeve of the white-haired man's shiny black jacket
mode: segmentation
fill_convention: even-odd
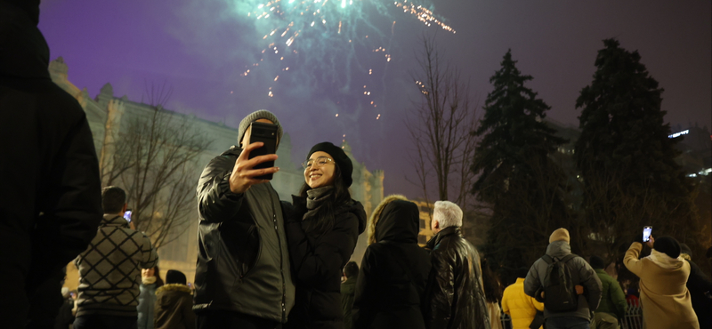
[[[455,277],[449,255],[442,250],[433,250],[433,292],[428,296],[430,318],[425,319],[428,328],[447,328],[452,318],[452,297],[455,295]]]

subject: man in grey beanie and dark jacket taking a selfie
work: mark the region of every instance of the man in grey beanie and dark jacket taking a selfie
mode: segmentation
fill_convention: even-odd
[[[250,143],[255,123],[271,139]],[[256,129],[255,129],[256,131]],[[214,157],[198,181],[198,328],[274,328],[295,299],[279,195],[263,177],[282,136],[277,116],[259,110],[239,124],[239,147]],[[269,145],[268,145],[269,144]],[[251,152],[261,153],[250,156]]]

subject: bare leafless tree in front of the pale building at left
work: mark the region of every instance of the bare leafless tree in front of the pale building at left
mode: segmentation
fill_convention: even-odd
[[[157,248],[180,237],[190,222],[196,161],[209,145],[187,116],[160,105],[169,94],[151,92],[149,110],[132,116],[109,113],[101,152],[103,185],[125,189],[134,227]]]

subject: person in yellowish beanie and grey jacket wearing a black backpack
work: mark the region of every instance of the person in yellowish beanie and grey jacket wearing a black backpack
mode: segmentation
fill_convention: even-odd
[[[546,271],[548,261],[561,261],[569,269],[573,285],[582,285],[583,293],[578,293],[578,289],[570,293],[578,294],[575,308],[570,310],[554,311],[549,309],[547,301],[554,302],[553,296],[544,296],[544,318],[546,329],[561,328],[589,328],[591,323],[591,312],[598,309],[601,301],[601,290],[603,285],[601,279],[595,274],[595,270],[583,258],[571,253],[571,245],[568,229],[555,229],[549,236],[549,245],[546,247],[546,255],[534,261],[529,274],[524,279],[524,293],[534,298],[541,297],[542,291],[546,291]],[[554,273],[552,273],[554,275]],[[576,326],[578,325],[578,326]]]

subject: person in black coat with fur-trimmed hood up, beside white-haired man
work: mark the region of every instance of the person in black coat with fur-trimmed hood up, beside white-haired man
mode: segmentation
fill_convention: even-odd
[[[387,197],[370,222],[377,242],[368,245],[361,261],[353,327],[425,329],[421,307],[431,265],[430,255],[417,245],[417,205]]]

